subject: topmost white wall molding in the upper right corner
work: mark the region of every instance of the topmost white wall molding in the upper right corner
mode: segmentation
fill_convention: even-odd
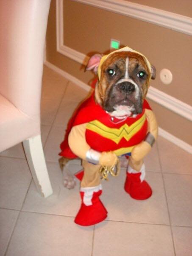
[[[192,18],[124,0],[73,0],[192,35]]]

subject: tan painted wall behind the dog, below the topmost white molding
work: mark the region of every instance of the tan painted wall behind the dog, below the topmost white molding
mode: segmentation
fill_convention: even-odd
[[[148,3],[147,0],[143,2]],[[150,2],[153,3],[153,1]],[[175,2],[178,1],[175,0]],[[156,66],[157,79],[151,83],[153,87],[185,103],[192,104],[191,36],[100,8],[64,0],[64,44],[66,46],[86,55],[92,52],[104,53],[109,50],[111,38],[119,39],[122,45],[128,45],[144,53]],[[56,52],[55,0],[51,1],[48,20],[47,61],[85,83],[93,77],[91,72],[83,72],[81,64]],[[162,84],[159,79],[162,68],[168,68],[173,73],[173,82],[170,85]],[[157,112],[161,128],[192,145],[192,127],[188,120],[156,103],[153,103],[153,109]],[[164,116],[169,116],[170,122],[165,122]],[[181,123],[185,124],[184,133],[181,129],[178,131],[175,128]]]

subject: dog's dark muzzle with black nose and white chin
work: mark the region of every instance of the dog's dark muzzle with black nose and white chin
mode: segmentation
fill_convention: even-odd
[[[136,84],[116,83],[111,86],[106,96],[104,109],[108,112],[124,110],[131,114],[140,114],[142,113],[142,92]]]

